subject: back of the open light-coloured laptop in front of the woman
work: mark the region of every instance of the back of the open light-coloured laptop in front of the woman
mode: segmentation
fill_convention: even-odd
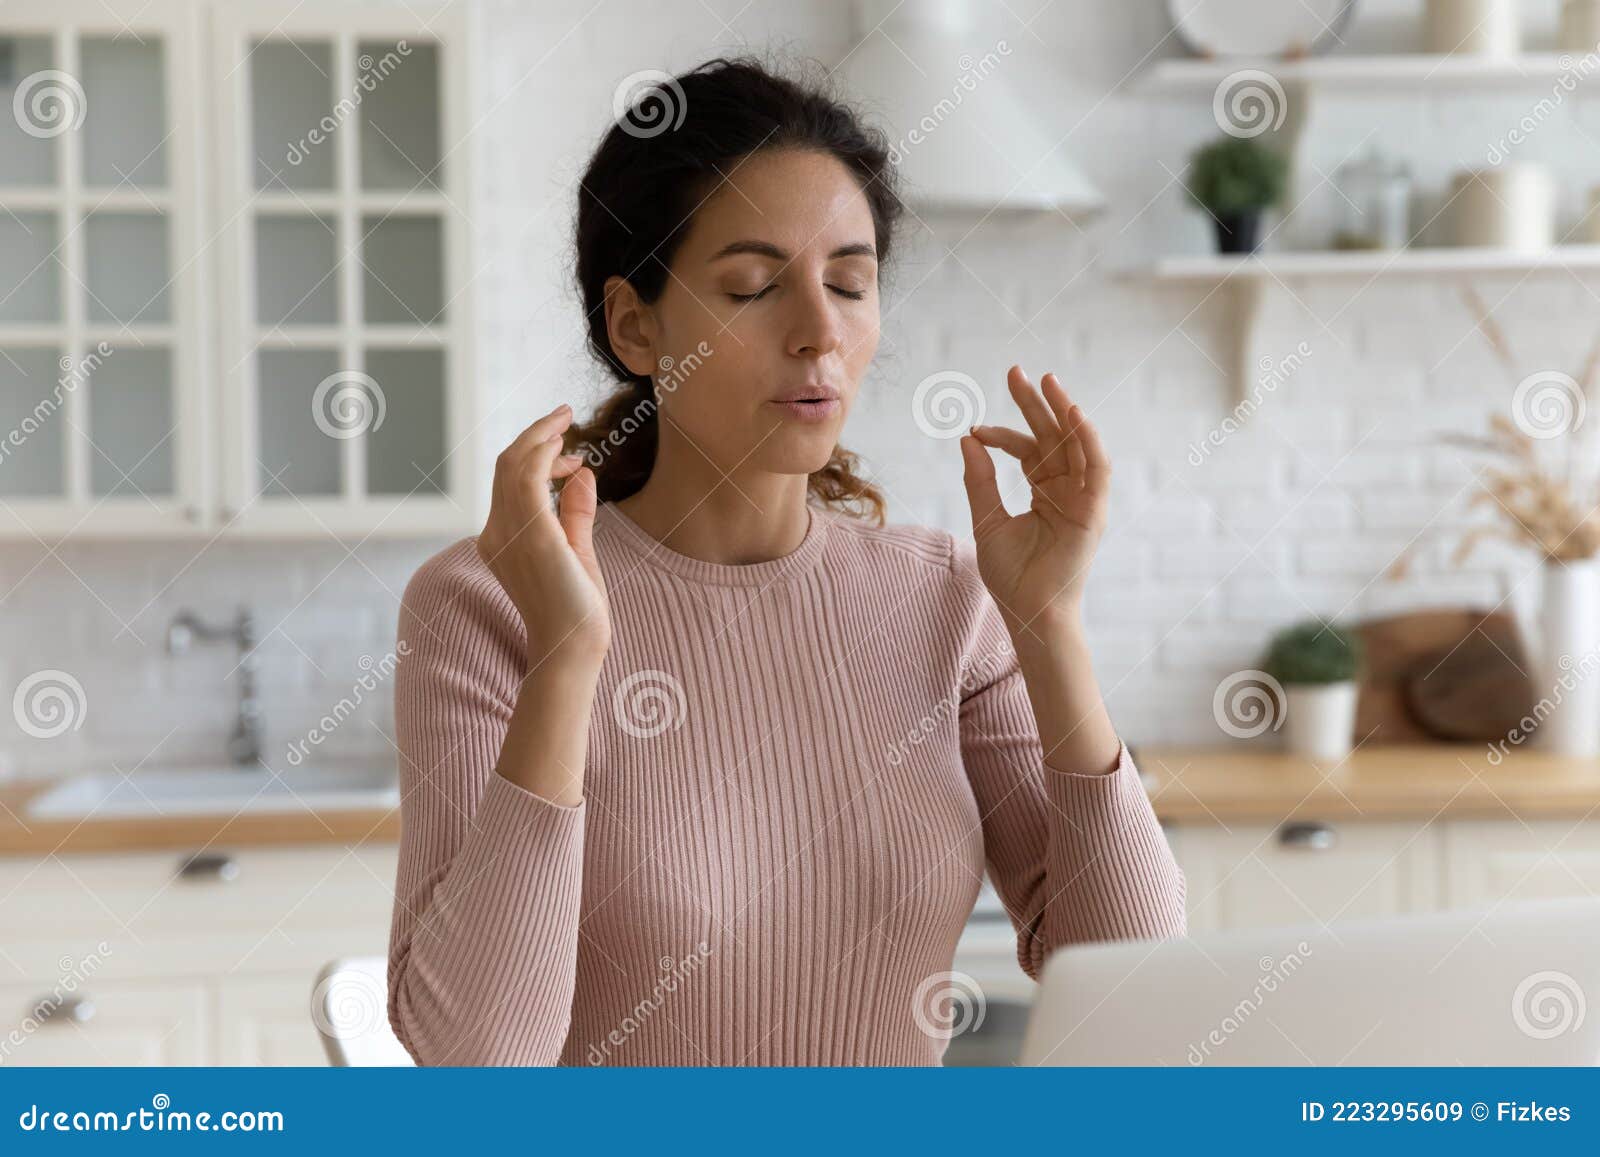
[[[1600,1064],[1600,899],[1059,949],[1021,1064]]]

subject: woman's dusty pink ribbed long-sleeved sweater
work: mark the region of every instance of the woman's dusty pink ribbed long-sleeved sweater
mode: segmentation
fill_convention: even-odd
[[[1123,744],[1043,763],[970,542],[811,507],[747,566],[595,518],[613,643],[584,800],[494,771],[526,632],[467,538],[406,586],[389,1018],[422,1064],[938,1064],[987,863],[1037,975],[1184,933]]]

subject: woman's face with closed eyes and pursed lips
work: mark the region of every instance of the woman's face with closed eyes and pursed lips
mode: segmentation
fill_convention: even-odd
[[[734,477],[811,474],[878,347],[867,198],[827,154],[750,155],[694,211],[666,290],[640,309],[662,445],[686,440]]]

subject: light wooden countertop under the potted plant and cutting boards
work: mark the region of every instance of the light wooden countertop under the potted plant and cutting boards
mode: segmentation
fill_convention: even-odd
[[[1486,744],[1358,747],[1342,763],[1256,746],[1134,747],[1155,813],[1174,823],[1600,816],[1600,759]]]

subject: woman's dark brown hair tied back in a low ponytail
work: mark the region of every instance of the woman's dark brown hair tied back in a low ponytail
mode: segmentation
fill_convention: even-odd
[[[578,186],[578,288],[589,349],[622,387],[600,402],[589,422],[568,427],[563,450],[584,453],[602,502],[645,485],[658,445],[653,381],[630,373],[611,349],[606,278],[624,277],[642,301],[656,301],[694,206],[741,158],[776,149],[826,152],[856,176],[872,210],[882,269],[901,213],[883,134],[819,85],[755,61],[718,58],[662,77],[629,104],[589,162]],[[856,454],[835,446],[811,474],[810,494],[882,523],[883,494],[856,466]]]

